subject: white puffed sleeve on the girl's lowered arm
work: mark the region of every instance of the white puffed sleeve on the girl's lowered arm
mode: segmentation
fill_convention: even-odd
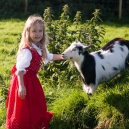
[[[30,65],[31,59],[32,59],[32,54],[30,50],[28,49],[21,50],[17,56],[17,62],[16,62],[17,72],[18,71],[26,72],[25,68],[27,68]]]

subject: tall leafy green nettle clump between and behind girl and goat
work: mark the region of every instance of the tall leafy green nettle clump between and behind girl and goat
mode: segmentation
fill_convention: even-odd
[[[100,37],[105,34],[104,28],[98,24],[101,21],[98,9],[93,13],[91,20],[82,23],[81,12],[77,11],[73,22],[70,19],[68,5],[64,5],[59,20],[53,20],[54,15],[50,7],[44,10],[43,18],[45,20],[47,33],[50,37],[48,49],[52,53],[62,53],[72,42],[80,40],[91,45],[91,51],[99,49],[101,45]],[[44,85],[51,86],[75,86],[79,82],[79,76],[76,69],[73,69],[69,61],[56,61],[43,65],[40,77],[44,76]],[[47,81],[50,79],[51,81]],[[70,81],[69,81],[70,80]],[[78,80],[78,81],[77,81]],[[68,83],[69,82],[69,83]]]

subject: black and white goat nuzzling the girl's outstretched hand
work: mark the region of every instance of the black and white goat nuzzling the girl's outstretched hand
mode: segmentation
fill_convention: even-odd
[[[88,46],[81,42],[74,42],[62,57],[74,62],[83,81],[83,90],[93,94],[100,82],[113,78],[128,67],[129,40],[115,38],[99,51],[88,53],[87,49]]]

